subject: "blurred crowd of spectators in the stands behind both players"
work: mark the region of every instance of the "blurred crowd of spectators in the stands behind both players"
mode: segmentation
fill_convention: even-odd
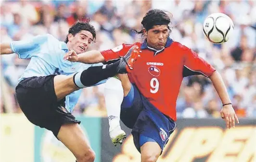
[[[221,73],[239,117],[256,117],[256,1],[253,0],[86,0],[1,1],[1,42],[29,39],[50,33],[64,41],[70,25],[90,18],[97,31],[90,49],[105,50],[122,43],[141,41],[132,29],[140,30],[150,9],[172,13],[174,41],[195,50]],[[206,40],[202,23],[207,15],[230,16],[235,30],[228,42],[214,45]],[[171,14],[170,14],[171,16]],[[29,60],[17,55],[1,56],[1,112],[20,113],[15,86]],[[75,114],[106,116],[104,85],[85,88]],[[221,101],[209,79],[184,78],[177,100],[179,118],[220,117]]]

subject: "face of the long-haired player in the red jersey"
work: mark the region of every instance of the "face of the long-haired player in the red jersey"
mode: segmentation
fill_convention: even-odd
[[[152,29],[145,31],[147,44],[157,50],[164,48],[169,36],[167,25],[155,25]]]

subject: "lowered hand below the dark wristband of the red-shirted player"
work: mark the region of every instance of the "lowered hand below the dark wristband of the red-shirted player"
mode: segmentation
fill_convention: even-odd
[[[234,108],[231,104],[225,105],[220,111],[222,119],[226,122],[227,128],[235,127],[235,121],[239,123]]]

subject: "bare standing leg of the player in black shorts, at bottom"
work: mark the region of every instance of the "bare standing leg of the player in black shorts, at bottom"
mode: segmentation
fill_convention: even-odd
[[[89,140],[77,123],[62,125],[57,138],[75,155],[78,162],[85,156],[95,156]]]

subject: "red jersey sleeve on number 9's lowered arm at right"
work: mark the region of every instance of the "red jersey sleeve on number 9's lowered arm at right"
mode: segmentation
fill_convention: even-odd
[[[184,67],[187,68],[192,75],[201,73],[206,77],[210,77],[216,70],[205,61],[205,59],[198,56],[192,49],[186,46],[182,46],[182,49],[184,52]]]

